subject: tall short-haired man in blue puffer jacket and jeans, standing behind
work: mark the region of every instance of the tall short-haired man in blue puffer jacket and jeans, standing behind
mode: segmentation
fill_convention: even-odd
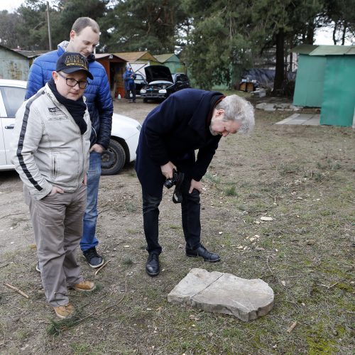
[[[52,77],[55,63],[65,52],[80,53],[89,62],[89,71],[94,80],[89,81],[85,89],[87,108],[92,123],[90,136],[89,171],[87,173],[87,207],[84,213],[84,229],[80,248],[89,266],[98,268],[104,263],[96,246],[99,243],[95,236],[97,224],[97,195],[101,175],[101,155],[109,146],[111,136],[112,104],[109,80],[104,67],[95,61],[94,48],[99,43],[99,25],[89,17],[77,18],[70,31],[70,40],[58,45],[58,50],[45,53],[36,58],[28,76],[26,99],[38,92]],[[38,270],[39,271],[39,270]]]

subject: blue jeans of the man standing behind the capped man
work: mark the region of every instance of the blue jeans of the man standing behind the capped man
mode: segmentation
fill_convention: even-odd
[[[90,153],[89,171],[87,172],[87,207],[84,213],[84,226],[80,249],[85,251],[99,244],[95,237],[97,222],[97,195],[101,175],[101,153]]]

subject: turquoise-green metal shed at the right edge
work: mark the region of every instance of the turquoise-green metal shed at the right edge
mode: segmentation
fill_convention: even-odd
[[[299,45],[293,104],[321,107],[320,124],[351,126],[355,114],[355,45]]]

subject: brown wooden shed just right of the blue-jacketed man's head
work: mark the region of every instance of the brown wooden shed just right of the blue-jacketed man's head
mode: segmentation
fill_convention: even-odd
[[[101,63],[109,78],[111,97],[124,97],[124,80],[122,76],[126,70],[126,60],[113,53],[95,54],[97,62]]]

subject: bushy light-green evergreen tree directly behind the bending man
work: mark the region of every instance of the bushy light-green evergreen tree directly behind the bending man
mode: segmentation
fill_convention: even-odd
[[[249,35],[250,1],[184,0],[192,17],[184,55],[197,85],[231,84],[243,67],[251,65],[253,43]]]

